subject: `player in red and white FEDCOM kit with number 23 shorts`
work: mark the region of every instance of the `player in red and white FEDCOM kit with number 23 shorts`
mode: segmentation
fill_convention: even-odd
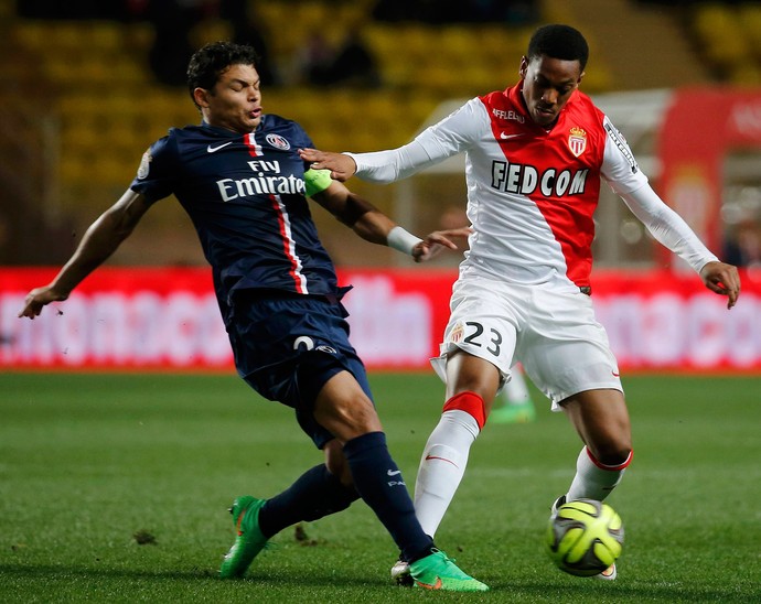
[[[409,144],[361,154],[301,152],[334,179],[356,173],[376,183],[465,154],[473,231],[441,356],[433,359],[447,401],[415,492],[416,513],[431,536],[517,362],[583,442],[576,476],[554,509],[565,500],[604,499],[631,462],[619,368],[589,295],[602,179],[709,290],[728,296],[729,309],[739,295],[737,269],[720,262],[655,194],[623,137],[579,91],[588,55],[580,32],[545,25],[528,44],[515,86],[471,99]],[[612,567],[602,576],[615,574]]]

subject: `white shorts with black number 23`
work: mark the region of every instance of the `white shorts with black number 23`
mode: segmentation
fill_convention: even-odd
[[[494,364],[505,380],[522,363],[554,411],[585,390],[623,392],[608,334],[580,291],[469,277],[454,284],[450,310],[441,355],[431,359],[444,381],[447,355],[462,349]]]

